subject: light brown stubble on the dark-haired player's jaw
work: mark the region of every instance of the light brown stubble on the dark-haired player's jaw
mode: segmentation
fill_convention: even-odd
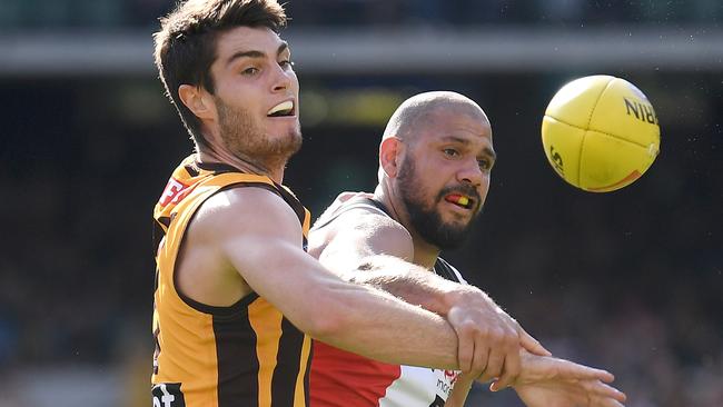
[[[237,158],[266,169],[284,168],[301,148],[299,126],[286,135],[271,137],[258,126],[248,110],[232,108],[217,99],[218,121],[225,147]]]

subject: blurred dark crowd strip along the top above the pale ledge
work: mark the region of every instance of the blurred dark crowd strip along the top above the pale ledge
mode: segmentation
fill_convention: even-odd
[[[6,0],[4,27],[26,29],[152,28],[172,0]],[[369,27],[380,24],[544,26],[556,21],[591,23],[715,23],[716,0],[296,0],[287,2],[294,26]]]

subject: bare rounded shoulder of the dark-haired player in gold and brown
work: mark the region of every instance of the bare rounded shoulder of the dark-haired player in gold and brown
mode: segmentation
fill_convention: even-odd
[[[291,208],[275,192],[242,187],[220,191],[196,211],[177,261],[181,292],[201,304],[230,306],[248,295],[247,277],[259,252],[273,242],[301,246],[301,228]]]

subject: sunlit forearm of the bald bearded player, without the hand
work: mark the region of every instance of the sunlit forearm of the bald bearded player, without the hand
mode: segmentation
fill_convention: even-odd
[[[446,317],[460,296],[472,292],[476,296],[484,295],[476,287],[446,280],[423,267],[392,256],[368,256],[356,270],[344,277],[353,282],[374,286],[443,317]]]

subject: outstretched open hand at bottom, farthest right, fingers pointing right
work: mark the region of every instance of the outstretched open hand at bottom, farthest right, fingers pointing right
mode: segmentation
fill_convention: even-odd
[[[605,370],[570,360],[523,353],[522,371],[513,388],[527,407],[622,407],[625,394],[607,385]],[[491,390],[502,389],[498,383]]]

